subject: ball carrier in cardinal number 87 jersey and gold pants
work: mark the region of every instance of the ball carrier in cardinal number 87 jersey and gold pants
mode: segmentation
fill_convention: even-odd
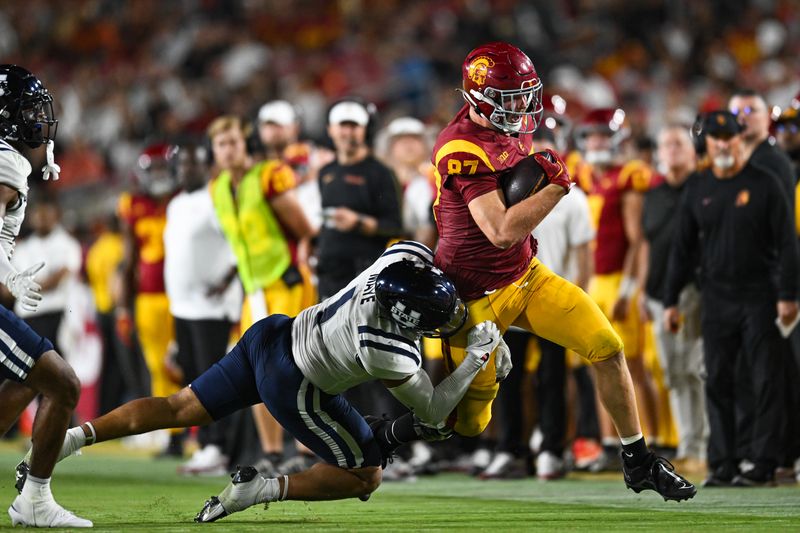
[[[439,135],[432,157],[439,189],[436,266],[467,301],[469,325],[491,320],[501,331],[518,326],[594,364],[600,398],[621,436],[629,488],[652,489],[665,499],[693,497],[694,485],[645,444],[619,335],[583,291],[534,257],[531,231],[569,192],[571,181],[555,152],[533,153],[532,134],[543,109],[533,63],[518,48],[497,42],[470,52],[462,74],[466,104]],[[549,184],[506,206],[499,174],[532,153]],[[444,341],[449,371],[462,364],[466,347],[463,333]],[[475,378],[458,405],[457,433],[484,430],[497,390],[495,380]]]

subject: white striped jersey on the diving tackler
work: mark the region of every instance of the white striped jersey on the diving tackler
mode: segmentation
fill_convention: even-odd
[[[427,246],[398,242],[347,287],[295,318],[295,363],[328,394],[374,379],[403,379],[419,371],[422,354],[418,334],[380,312],[375,298],[378,274],[403,259],[433,264]]]

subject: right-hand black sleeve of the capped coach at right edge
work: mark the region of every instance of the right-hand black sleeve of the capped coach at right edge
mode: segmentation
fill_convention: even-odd
[[[769,201],[770,229],[778,250],[778,299],[797,299],[798,251],[792,213],[785,201],[783,187],[777,179],[773,183]]]

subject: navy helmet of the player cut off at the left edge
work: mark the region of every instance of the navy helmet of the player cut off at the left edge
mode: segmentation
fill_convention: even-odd
[[[31,148],[56,138],[53,97],[42,82],[17,65],[0,65],[0,138]]]

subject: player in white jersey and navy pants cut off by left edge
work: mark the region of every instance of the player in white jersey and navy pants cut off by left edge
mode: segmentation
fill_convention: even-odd
[[[0,65],[0,282],[20,305],[35,311],[42,297],[33,280],[44,263],[17,272],[9,259],[19,234],[28,196],[31,165],[20,153],[23,145],[47,144],[44,178],[58,178],[53,139],[58,121],[53,97],[33,74],[16,65]],[[56,503],[50,476],[78,403],[80,382],[72,367],[22,319],[0,306],[0,433],[19,418],[38,395],[42,399],[33,422],[29,482],[8,509],[13,525],[32,527],[92,527]]]

